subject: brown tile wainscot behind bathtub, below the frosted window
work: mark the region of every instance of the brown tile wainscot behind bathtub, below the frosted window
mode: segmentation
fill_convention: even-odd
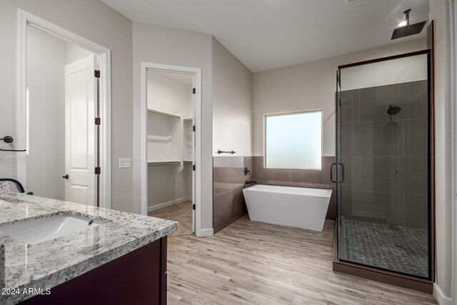
[[[326,219],[335,219],[336,216],[336,186],[330,181],[330,164],[335,162],[334,156],[322,157],[322,169],[264,169],[263,156],[253,156],[253,180],[258,184],[282,186],[311,187],[316,189],[332,189],[330,204]]]

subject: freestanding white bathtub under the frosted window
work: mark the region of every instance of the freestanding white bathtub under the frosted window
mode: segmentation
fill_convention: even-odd
[[[252,221],[322,231],[331,189],[256,184],[243,194]]]

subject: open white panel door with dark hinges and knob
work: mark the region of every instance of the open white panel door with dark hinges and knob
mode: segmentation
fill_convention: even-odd
[[[65,200],[90,206],[96,206],[95,60],[65,66]]]

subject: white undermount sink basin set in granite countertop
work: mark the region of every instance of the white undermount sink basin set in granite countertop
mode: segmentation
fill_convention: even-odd
[[[19,221],[0,226],[0,232],[26,244],[38,244],[60,236],[99,226],[106,221],[70,214],[58,214],[41,219]]]

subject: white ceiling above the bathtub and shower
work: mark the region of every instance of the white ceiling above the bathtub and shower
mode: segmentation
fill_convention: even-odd
[[[129,19],[212,34],[253,72],[386,44],[412,9],[428,19],[428,0],[102,0]]]

